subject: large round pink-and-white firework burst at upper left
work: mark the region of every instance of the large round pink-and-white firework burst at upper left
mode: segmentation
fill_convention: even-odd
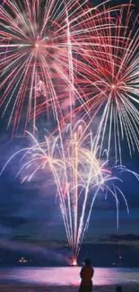
[[[100,47],[91,32],[99,35],[114,25],[109,13],[118,7],[102,8],[108,2],[92,7],[88,1],[9,0],[0,5],[0,107],[8,125],[13,121],[13,132],[20,121],[27,128],[31,118],[35,128],[42,111],[48,118],[53,113],[57,123],[68,112],[68,122],[73,120],[75,100],[83,102],[74,78],[88,49]]]

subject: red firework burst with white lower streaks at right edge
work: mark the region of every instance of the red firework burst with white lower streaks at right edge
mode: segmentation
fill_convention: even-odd
[[[100,155],[107,148],[109,157],[114,146],[116,161],[118,158],[122,160],[124,140],[130,155],[135,149],[139,150],[138,21],[132,5],[120,9],[113,19],[115,28],[100,32],[103,47],[100,46],[100,52],[90,50],[86,78],[80,81],[87,108],[84,119],[88,119],[89,114],[92,123],[95,117],[100,119],[96,129]],[[86,66],[83,74],[85,70]]]

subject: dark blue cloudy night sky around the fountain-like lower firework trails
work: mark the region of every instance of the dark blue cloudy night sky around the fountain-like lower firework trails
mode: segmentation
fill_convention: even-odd
[[[101,1],[94,1],[95,4],[99,2]],[[117,0],[111,2],[121,3]],[[127,1],[123,0],[122,3]],[[133,3],[138,4],[138,0]],[[43,127],[49,127],[45,119],[40,123]],[[11,128],[7,129],[6,125],[7,117],[0,120],[0,169],[15,151],[29,144],[29,139],[22,137],[20,133],[11,138]],[[139,155],[135,153],[131,159],[126,144],[123,147],[124,164],[139,173]],[[34,249],[34,252],[40,249],[44,254],[44,250],[55,252],[58,247],[60,254],[65,254],[65,227],[54,188],[48,185],[46,177],[40,173],[36,180],[21,184],[21,178],[15,177],[18,170],[19,158],[15,157],[0,178],[0,249],[6,248],[14,252],[18,250],[22,255],[22,251],[28,249]],[[123,179],[121,188],[126,194],[130,214],[126,214],[126,207],[121,199],[117,230],[115,201],[111,198],[105,200],[100,195],[83,242],[84,246],[90,243],[92,251],[95,244],[101,244],[102,251],[105,251],[108,243],[115,242],[132,245],[139,251],[139,182],[129,174],[124,174]]]

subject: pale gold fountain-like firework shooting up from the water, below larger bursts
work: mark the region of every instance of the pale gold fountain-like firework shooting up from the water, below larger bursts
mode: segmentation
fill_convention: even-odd
[[[118,195],[122,196],[128,206],[126,197],[117,186],[121,179],[109,169],[108,162],[98,159],[98,153],[92,139],[91,132],[85,133],[86,125],[80,121],[62,140],[57,137],[45,137],[44,142],[30,134],[33,146],[23,148],[15,153],[21,154],[21,168],[17,175],[22,175],[23,181],[31,181],[39,170],[45,171],[46,177],[52,184],[56,184],[57,198],[65,224],[65,232],[74,259],[80,251],[83,236],[88,229],[91,211],[100,192],[105,196],[110,193],[116,200],[118,226]],[[4,165],[4,168],[7,166]],[[1,173],[4,172],[4,168]],[[116,173],[130,172],[126,167],[116,167]],[[51,178],[49,174],[51,173]],[[139,176],[133,173],[136,179]],[[53,179],[53,180],[52,180]]]

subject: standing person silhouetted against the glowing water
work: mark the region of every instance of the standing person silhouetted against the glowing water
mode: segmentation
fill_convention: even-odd
[[[79,288],[79,292],[91,292],[92,291],[92,277],[94,274],[94,270],[91,267],[91,261],[86,260],[83,269],[80,272],[81,276],[81,285]]]

